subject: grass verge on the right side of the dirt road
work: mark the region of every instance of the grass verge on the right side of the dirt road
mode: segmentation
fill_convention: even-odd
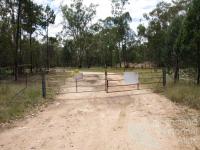
[[[200,86],[192,83],[169,84],[164,95],[176,103],[200,110]]]

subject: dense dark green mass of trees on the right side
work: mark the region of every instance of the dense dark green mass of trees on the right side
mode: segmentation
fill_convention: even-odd
[[[174,69],[175,82],[179,80],[180,68],[196,67],[199,84],[199,1],[176,0],[172,3],[160,2],[153,11],[144,14],[149,23],[147,27],[138,26],[140,44],[147,45],[150,61]]]

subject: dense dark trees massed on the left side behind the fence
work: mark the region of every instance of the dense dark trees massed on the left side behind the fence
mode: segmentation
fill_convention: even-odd
[[[14,73],[21,74],[21,65],[31,64],[31,71],[44,66],[47,52],[37,35],[54,23],[53,10],[32,0],[2,0],[0,8],[0,67],[15,66]]]

